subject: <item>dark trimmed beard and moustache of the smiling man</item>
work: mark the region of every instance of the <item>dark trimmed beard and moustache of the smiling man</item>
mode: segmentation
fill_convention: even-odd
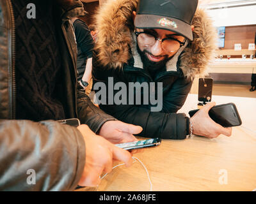
[[[140,54],[141,61],[143,63],[143,68],[148,69],[148,71],[157,71],[159,69],[164,69],[166,66],[166,62],[168,62],[170,59],[173,58],[173,56],[168,57],[168,55],[159,55],[157,57],[161,56],[161,57],[164,57],[164,59],[159,62],[153,62],[153,61],[150,61],[146,55],[146,54],[150,54],[150,55],[152,55],[152,54],[150,52],[148,52],[147,50],[141,51],[140,47],[138,46],[138,43],[137,43],[137,50],[138,50],[138,53]]]

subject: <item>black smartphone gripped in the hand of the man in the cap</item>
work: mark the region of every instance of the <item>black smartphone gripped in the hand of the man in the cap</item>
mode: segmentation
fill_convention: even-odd
[[[190,117],[195,115],[197,110],[189,111]],[[220,124],[224,128],[230,128],[234,126],[241,126],[242,121],[234,103],[227,103],[222,105],[213,106],[209,111],[209,116],[214,122]]]

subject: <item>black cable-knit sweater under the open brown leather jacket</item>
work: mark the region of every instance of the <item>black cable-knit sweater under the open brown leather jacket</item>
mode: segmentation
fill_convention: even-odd
[[[63,105],[56,97],[56,84],[61,82],[61,57],[52,21],[52,2],[12,1],[16,27],[17,119],[65,118]],[[35,19],[27,18],[29,3],[36,6]]]

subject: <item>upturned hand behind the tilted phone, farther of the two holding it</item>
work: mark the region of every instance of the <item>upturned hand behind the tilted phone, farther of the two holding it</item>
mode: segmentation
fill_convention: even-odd
[[[141,131],[140,126],[127,124],[120,120],[111,120],[102,125],[99,135],[111,143],[125,143],[138,141],[133,134],[139,134]]]

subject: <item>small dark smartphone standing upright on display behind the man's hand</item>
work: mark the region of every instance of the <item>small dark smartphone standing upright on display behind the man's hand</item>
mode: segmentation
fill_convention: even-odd
[[[211,102],[212,84],[212,78],[199,78],[198,101]]]

